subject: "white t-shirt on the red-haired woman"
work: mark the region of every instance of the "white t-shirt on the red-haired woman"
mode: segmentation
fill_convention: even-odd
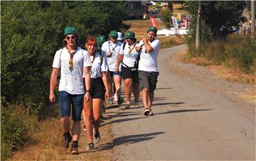
[[[94,60],[93,60],[94,59]],[[90,56],[90,60],[92,62],[92,67],[90,69],[90,76],[91,78],[98,78],[102,77],[102,72],[107,72],[108,67],[104,57],[100,57],[100,53],[95,54],[95,58]]]

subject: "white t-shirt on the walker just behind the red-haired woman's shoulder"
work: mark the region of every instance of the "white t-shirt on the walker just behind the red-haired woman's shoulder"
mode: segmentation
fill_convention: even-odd
[[[115,71],[115,68],[117,66],[117,58],[119,55],[119,50],[121,47],[122,43],[117,42],[117,43],[112,43],[110,40],[106,41],[105,43],[102,44],[102,53],[103,55],[107,55],[107,52],[114,52],[111,57],[107,57],[107,65],[109,67],[109,70],[111,72]],[[119,72],[121,72],[121,63],[119,65]]]

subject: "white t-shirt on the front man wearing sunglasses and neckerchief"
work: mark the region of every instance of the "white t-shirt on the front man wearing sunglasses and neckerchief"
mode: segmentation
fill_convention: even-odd
[[[90,57],[85,50],[78,48],[73,55],[73,65],[69,68],[70,53],[66,48],[55,53],[53,67],[60,68],[59,91],[67,91],[69,94],[85,94],[83,87],[83,67],[92,66]]]

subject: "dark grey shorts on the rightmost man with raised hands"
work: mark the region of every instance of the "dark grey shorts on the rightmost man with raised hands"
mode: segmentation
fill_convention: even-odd
[[[154,91],[156,89],[156,82],[159,72],[145,72],[142,70],[139,73],[139,89],[148,88],[149,91]]]

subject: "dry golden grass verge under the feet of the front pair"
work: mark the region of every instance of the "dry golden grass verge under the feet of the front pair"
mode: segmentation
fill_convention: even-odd
[[[14,152],[9,160],[112,160],[113,139],[110,124],[100,128],[102,140],[95,145],[96,150],[92,152],[85,150],[87,139],[85,132],[81,131],[80,155],[70,155],[70,148],[68,150],[60,148],[63,133],[57,118],[43,121],[40,128],[40,131],[34,135],[38,143]]]

